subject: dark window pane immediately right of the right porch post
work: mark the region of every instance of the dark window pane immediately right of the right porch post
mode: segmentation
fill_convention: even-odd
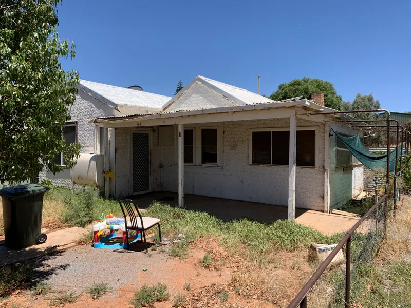
[[[296,146],[296,165],[315,167],[315,130],[297,130]]]

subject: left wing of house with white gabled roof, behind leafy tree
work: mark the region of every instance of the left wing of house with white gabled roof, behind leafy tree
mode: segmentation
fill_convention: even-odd
[[[81,153],[104,153],[104,131],[102,127],[89,123],[90,119],[160,112],[170,99],[163,95],[81,80],[76,101],[69,110],[71,120],[62,128],[63,136],[66,143],[79,142]],[[110,147],[109,163],[114,165],[115,136],[112,131],[108,131],[107,138]],[[55,163],[64,166],[63,154],[55,158]],[[53,185],[72,185],[68,168],[55,175],[43,170],[39,178],[47,178]],[[109,189],[113,190],[114,195],[115,187]]]

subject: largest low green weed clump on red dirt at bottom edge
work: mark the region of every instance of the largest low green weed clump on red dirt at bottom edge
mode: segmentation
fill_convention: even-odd
[[[164,284],[157,284],[152,286],[147,286],[144,284],[139,291],[134,293],[132,299],[130,299],[130,304],[135,307],[153,307],[155,302],[161,302],[169,299],[170,294],[167,292],[167,286]]]

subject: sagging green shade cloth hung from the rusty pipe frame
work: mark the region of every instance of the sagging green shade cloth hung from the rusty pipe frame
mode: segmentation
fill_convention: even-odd
[[[335,131],[334,131],[335,133]],[[364,166],[370,168],[371,170],[387,169],[387,155],[372,155],[361,143],[360,136],[357,134],[352,137],[344,137],[339,133],[335,133],[338,139],[347,147],[351,154],[356,157]],[[404,142],[405,143],[405,142]],[[395,169],[395,149],[389,154],[389,170],[394,171]],[[401,146],[398,148],[398,157],[401,153]]]

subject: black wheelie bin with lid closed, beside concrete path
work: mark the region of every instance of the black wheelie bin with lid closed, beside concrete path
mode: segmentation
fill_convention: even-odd
[[[31,183],[0,190],[7,247],[20,249],[46,242],[47,235],[41,233],[41,227],[43,197],[48,189]]]

